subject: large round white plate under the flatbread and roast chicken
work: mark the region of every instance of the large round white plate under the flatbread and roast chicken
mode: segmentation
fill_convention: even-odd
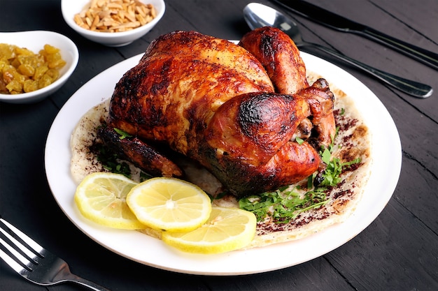
[[[304,52],[302,57],[308,70],[322,75],[355,100],[372,132],[372,144],[379,145],[372,148],[374,164],[365,193],[346,222],[297,241],[218,255],[197,255],[183,253],[134,230],[102,227],[83,218],[73,202],[76,184],[70,174],[71,132],[87,110],[111,98],[116,82],[138,63],[141,55],[122,61],[87,82],[71,96],[53,122],[45,147],[45,169],[59,207],[81,231],[114,253],[185,274],[261,273],[312,260],[345,244],[374,221],[393,195],[402,164],[400,137],[386,108],[362,82],[323,59]]]

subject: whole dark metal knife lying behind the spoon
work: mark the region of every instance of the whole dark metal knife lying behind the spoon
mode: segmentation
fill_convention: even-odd
[[[416,47],[415,45],[411,45],[410,43],[398,40],[397,38],[388,36],[385,33],[376,31],[371,27],[367,27],[364,24],[354,22],[353,20],[349,20],[341,15],[337,15],[306,1],[271,1],[273,1],[274,3],[279,3],[281,4],[281,6],[287,8],[288,10],[291,10],[295,13],[298,13],[299,15],[309,18],[310,20],[323,24],[326,27],[330,27],[338,31],[355,33],[360,36],[365,36],[366,38],[374,40],[377,43],[387,45],[388,47],[397,50],[398,52],[406,54],[416,61],[420,61],[421,63],[438,70],[438,54],[436,54],[435,52],[430,52],[421,47]]]

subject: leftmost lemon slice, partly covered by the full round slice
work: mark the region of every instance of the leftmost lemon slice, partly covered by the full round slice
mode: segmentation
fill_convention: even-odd
[[[146,228],[126,204],[136,182],[122,174],[96,172],[80,182],[74,200],[83,216],[108,227],[127,230]]]

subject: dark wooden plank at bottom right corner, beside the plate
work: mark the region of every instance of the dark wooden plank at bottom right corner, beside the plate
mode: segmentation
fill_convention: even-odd
[[[396,200],[345,247],[325,257],[356,290],[437,290],[438,238]]]

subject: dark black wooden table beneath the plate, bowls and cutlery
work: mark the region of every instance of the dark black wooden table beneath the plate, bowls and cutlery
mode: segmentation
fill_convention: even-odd
[[[320,258],[278,271],[195,276],[147,267],[108,251],[80,232],[57,206],[45,177],[44,147],[52,121],[66,100],[102,70],[144,52],[150,41],[163,33],[195,30],[219,38],[241,38],[248,31],[242,16],[248,2],[166,1],[164,17],[148,35],[126,47],[112,48],[85,40],[70,29],[62,19],[59,0],[0,0],[0,31],[57,31],[71,38],[80,52],[76,71],[49,98],[30,105],[0,103],[0,216],[64,258],[73,272],[111,290],[438,290],[437,70],[302,17],[297,20],[306,40],[435,89],[428,99],[413,98],[329,58],[379,97],[402,142],[402,170],[393,197],[357,237]],[[438,52],[436,0],[311,2]],[[0,262],[0,290],[83,288],[32,285]]]

